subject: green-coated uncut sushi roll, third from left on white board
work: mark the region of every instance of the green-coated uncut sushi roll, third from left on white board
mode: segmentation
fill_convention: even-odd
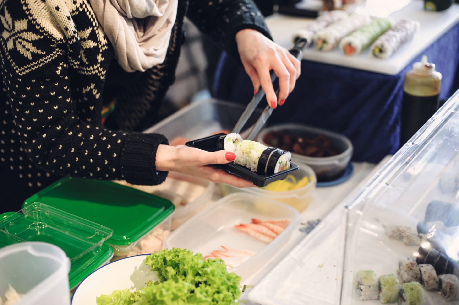
[[[390,18],[375,19],[341,39],[340,47],[348,56],[359,54],[384,32],[392,28],[392,24],[393,21]]]

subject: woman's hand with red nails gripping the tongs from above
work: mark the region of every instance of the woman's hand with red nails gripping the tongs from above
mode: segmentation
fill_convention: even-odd
[[[236,43],[242,65],[252,80],[254,94],[261,85],[272,108],[278,103],[284,104],[300,76],[300,61],[256,30],[246,28],[237,32]],[[271,83],[271,70],[279,78],[279,101]]]

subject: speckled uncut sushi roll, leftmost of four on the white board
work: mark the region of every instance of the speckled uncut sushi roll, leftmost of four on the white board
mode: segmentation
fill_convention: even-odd
[[[293,35],[293,43],[296,44],[298,39],[308,39],[308,46],[311,45],[314,34],[317,31],[328,27],[330,24],[348,18],[349,15],[345,11],[326,11],[322,16],[315,18],[313,21],[300,28],[295,35]]]

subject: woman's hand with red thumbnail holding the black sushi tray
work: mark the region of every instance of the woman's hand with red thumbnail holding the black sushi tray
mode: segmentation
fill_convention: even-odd
[[[213,166],[213,164],[229,163],[235,159],[236,154],[226,150],[207,152],[184,145],[159,145],[156,152],[156,169],[158,171],[181,172],[238,188],[254,187],[252,182]]]

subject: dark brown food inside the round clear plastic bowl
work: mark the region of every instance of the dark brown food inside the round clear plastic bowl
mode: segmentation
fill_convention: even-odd
[[[287,130],[272,131],[263,138],[264,143],[278,147],[281,150],[291,151],[308,157],[331,157],[342,153],[330,140],[323,134],[316,137],[307,135],[296,135]]]

